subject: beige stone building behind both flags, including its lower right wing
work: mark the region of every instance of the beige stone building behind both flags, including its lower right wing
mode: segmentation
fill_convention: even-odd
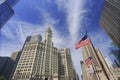
[[[106,75],[108,76],[109,80],[118,80],[120,77],[120,68],[110,67],[103,57],[100,49],[94,49],[92,43],[82,47],[82,54],[84,61],[90,56],[93,59],[93,62],[90,65],[87,65],[84,61],[80,62],[83,80],[108,80]],[[91,66],[92,68],[90,68]],[[93,72],[92,74],[91,71]]]

